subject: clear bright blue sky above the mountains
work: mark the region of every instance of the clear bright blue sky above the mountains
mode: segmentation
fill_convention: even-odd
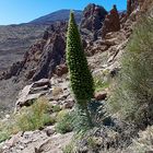
[[[0,0],[0,25],[26,23],[60,9],[83,10],[89,3],[126,10],[127,0]]]

